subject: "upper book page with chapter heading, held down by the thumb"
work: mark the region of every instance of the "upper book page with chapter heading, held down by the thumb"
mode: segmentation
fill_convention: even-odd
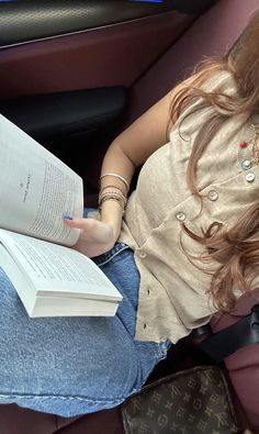
[[[82,216],[81,178],[2,115],[0,207],[0,227],[64,245],[78,240],[63,216]]]

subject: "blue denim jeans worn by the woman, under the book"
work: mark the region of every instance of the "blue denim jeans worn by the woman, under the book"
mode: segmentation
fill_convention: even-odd
[[[125,244],[95,258],[123,294],[112,318],[30,319],[0,269],[0,403],[74,416],[139,390],[166,343],[134,341],[139,274]]]

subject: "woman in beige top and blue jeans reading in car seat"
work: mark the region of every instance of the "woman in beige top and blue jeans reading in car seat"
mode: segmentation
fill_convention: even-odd
[[[112,143],[100,220],[66,220],[122,292],[116,316],[30,320],[1,274],[0,402],[64,416],[115,407],[171,343],[257,285],[258,34],[259,12],[226,58]]]

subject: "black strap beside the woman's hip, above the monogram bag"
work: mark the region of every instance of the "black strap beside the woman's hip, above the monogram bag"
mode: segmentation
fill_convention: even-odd
[[[259,304],[254,305],[249,315],[200,342],[199,348],[215,361],[222,361],[237,349],[256,343],[259,343]]]

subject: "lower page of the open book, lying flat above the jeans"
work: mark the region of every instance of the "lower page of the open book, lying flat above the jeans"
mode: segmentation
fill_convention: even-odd
[[[31,280],[38,296],[122,299],[100,268],[72,248],[5,230],[0,230],[0,242]]]

